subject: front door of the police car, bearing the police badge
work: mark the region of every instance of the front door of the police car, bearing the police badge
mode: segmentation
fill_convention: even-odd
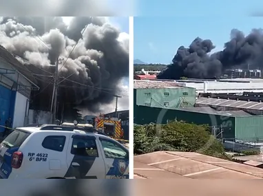
[[[129,151],[115,140],[100,137],[107,179],[129,179]]]

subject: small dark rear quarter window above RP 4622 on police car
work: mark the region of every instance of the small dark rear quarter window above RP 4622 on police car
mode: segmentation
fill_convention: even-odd
[[[42,146],[45,149],[62,152],[65,146],[65,139],[66,137],[62,135],[50,135],[45,137]]]

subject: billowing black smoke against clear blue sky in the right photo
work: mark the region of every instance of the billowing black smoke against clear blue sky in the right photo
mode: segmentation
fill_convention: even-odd
[[[252,30],[244,36],[239,30],[231,31],[231,40],[224,50],[210,54],[215,46],[212,41],[196,38],[188,48],[178,48],[173,63],[158,74],[160,79],[218,78],[231,68],[251,69],[263,67],[263,32]]]

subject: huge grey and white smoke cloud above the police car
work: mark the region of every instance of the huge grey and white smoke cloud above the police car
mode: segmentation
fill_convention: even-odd
[[[100,105],[112,102],[113,95],[120,94],[118,83],[129,74],[128,39],[104,17],[75,17],[70,25],[61,17],[0,17],[0,45],[25,59],[19,61],[31,71],[36,67],[45,71],[37,69],[44,76],[36,76],[45,91],[32,95],[38,109],[50,109],[50,76],[57,58],[63,59],[59,103],[97,112]]]

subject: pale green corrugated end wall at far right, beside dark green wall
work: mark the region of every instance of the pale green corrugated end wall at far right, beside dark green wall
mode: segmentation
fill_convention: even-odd
[[[238,116],[235,126],[237,140],[263,141],[263,116]]]

